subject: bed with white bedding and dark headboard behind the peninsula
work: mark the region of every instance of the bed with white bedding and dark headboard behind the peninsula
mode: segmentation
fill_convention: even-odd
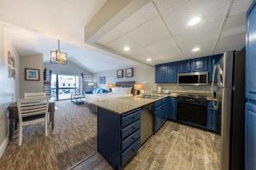
[[[135,84],[135,82],[116,82],[117,88],[113,88],[112,93],[85,94],[85,99],[84,99],[85,105],[87,105],[91,111],[96,112],[97,107],[96,107],[96,105],[93,105],[94,102],[108,100],[108,99],[131,97],[134,92],[134,90],[133,90],[134,84]],[[121,89],[121,88],[123,88],[123,89]],[[125,89],[126,89],[126,91],[124,92]]]

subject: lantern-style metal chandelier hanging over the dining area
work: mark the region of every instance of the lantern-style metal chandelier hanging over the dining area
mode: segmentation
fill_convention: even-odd
[[[50,51],[50,63],[67,65],[67,53],[61,52],[60,40],[58,40],[58,49]]]

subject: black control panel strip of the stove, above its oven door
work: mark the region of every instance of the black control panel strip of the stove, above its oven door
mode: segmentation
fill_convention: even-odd
[[[198,95],[179,95],[177,97],[177,101],[190,103],[190,104],[200,104],[200,105],[207,104],[207,98],[205,96],[198,96]]]

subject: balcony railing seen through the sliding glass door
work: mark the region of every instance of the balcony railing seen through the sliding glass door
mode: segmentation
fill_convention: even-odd
[[[51,99],[56,100],[56,88],[51,88]],[[59,88],[58,99],[71,99],[72,94],[76,94],[78,88]]]

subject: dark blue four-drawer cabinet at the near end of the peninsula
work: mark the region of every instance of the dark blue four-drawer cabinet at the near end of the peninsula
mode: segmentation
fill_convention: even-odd
[[[97,113],[97,150],[113,169],[122,169],[141,145],[141,110],[122,115],[102,108]]]

